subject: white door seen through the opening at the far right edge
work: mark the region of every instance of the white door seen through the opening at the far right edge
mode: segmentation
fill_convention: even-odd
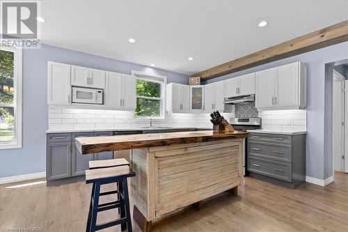
[[[333,171],[345,172],[345,169],[348,169],[345,165],[345,77],[333,68],[332,78]]]

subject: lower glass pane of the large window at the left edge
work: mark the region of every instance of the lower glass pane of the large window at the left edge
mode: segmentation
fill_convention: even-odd
[[[0,107],[0,143],[15,140],[15,109]]]

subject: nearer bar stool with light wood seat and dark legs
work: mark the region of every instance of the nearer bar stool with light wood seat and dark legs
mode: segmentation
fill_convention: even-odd
[[[121,231],[125,231],[127,228],[129,232],[132,232],[132,219],[129,210],[129,194],[127,184],[127,178],[132,176],[135,176],[135,173],[127,165],[86,170],[86,184],[93,183],[86,232],[99,231],[118,224],[121,224]],[[119,190],[120,198],[117,201],[99,204],[100,196],[115,194],[118,192],[109,191],[101,193],[100,186],[109,183],[118,183],[118,185],[122,186]],[[97,224],[97,212],[111,210],[113,208],[120,208],[120,219]]]

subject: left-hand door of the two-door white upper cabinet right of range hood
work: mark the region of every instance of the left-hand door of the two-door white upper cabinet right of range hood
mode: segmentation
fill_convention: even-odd
[[[274,79],[276,69],[271,68],[256,72],[255,77],[255,107],[274,107]]]

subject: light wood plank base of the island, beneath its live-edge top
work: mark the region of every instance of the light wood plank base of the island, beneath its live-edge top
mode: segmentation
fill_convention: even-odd
[[[242,139],[132,150],[134,220],[150,231],[153,219],[243,183]],[[200,205],[201,206],[201,205]],[[198,207],[200,207],[198,206]]]

